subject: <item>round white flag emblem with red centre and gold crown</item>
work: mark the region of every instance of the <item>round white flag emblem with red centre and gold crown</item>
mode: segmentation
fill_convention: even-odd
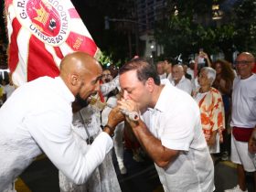
[[[62,1],[15,0],[16,16],[22,26],[39,40],[59,46],[69,37],[69,11]]]

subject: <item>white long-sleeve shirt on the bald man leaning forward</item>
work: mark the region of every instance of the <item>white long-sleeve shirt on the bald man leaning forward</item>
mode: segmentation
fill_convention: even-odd
[[[43,77],[14,91],[0,109],[0,191],[42,154],[73,182],[81,184],[112,149],[100,133],[83,155],[70,126],[73,94],[60,78]]]

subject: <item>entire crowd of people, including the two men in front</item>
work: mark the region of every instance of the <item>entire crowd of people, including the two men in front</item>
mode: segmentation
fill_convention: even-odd
[[[27,82],[11,96],[3,80],[0,155],[9,157],[0,158],[0,191],[15,191],[16,176],[42,153],[59,168],[62,192],[121,191],[112,152],[124,175],[129,147],[134,160],[143,151],[154,161],[166,192],[214,191],[219,153],[237,164],[238,186],[226,191],[247,191],[246,172],[256,186],[255,58],[242,52],[234,66],[202,51],[187,65],[132,59],[117,74],[75,52],[62,59],[59,77]]]

